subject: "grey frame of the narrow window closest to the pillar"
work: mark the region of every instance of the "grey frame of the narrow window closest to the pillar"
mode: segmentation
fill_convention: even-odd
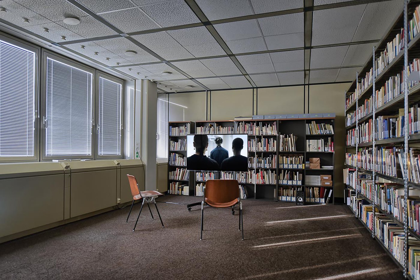
[[[99,155],[99,133],[97,125],[99,124],[99,78],[105,78],[115,83],[121,84],[121,135],[120,135],[120,155]],[[123,79],[118,79],[114,76],[111,76],[105,72],[96,70],[95,75],[95,160],[121,160],[124,158],[124,132],[125,132],[125,81]]]

